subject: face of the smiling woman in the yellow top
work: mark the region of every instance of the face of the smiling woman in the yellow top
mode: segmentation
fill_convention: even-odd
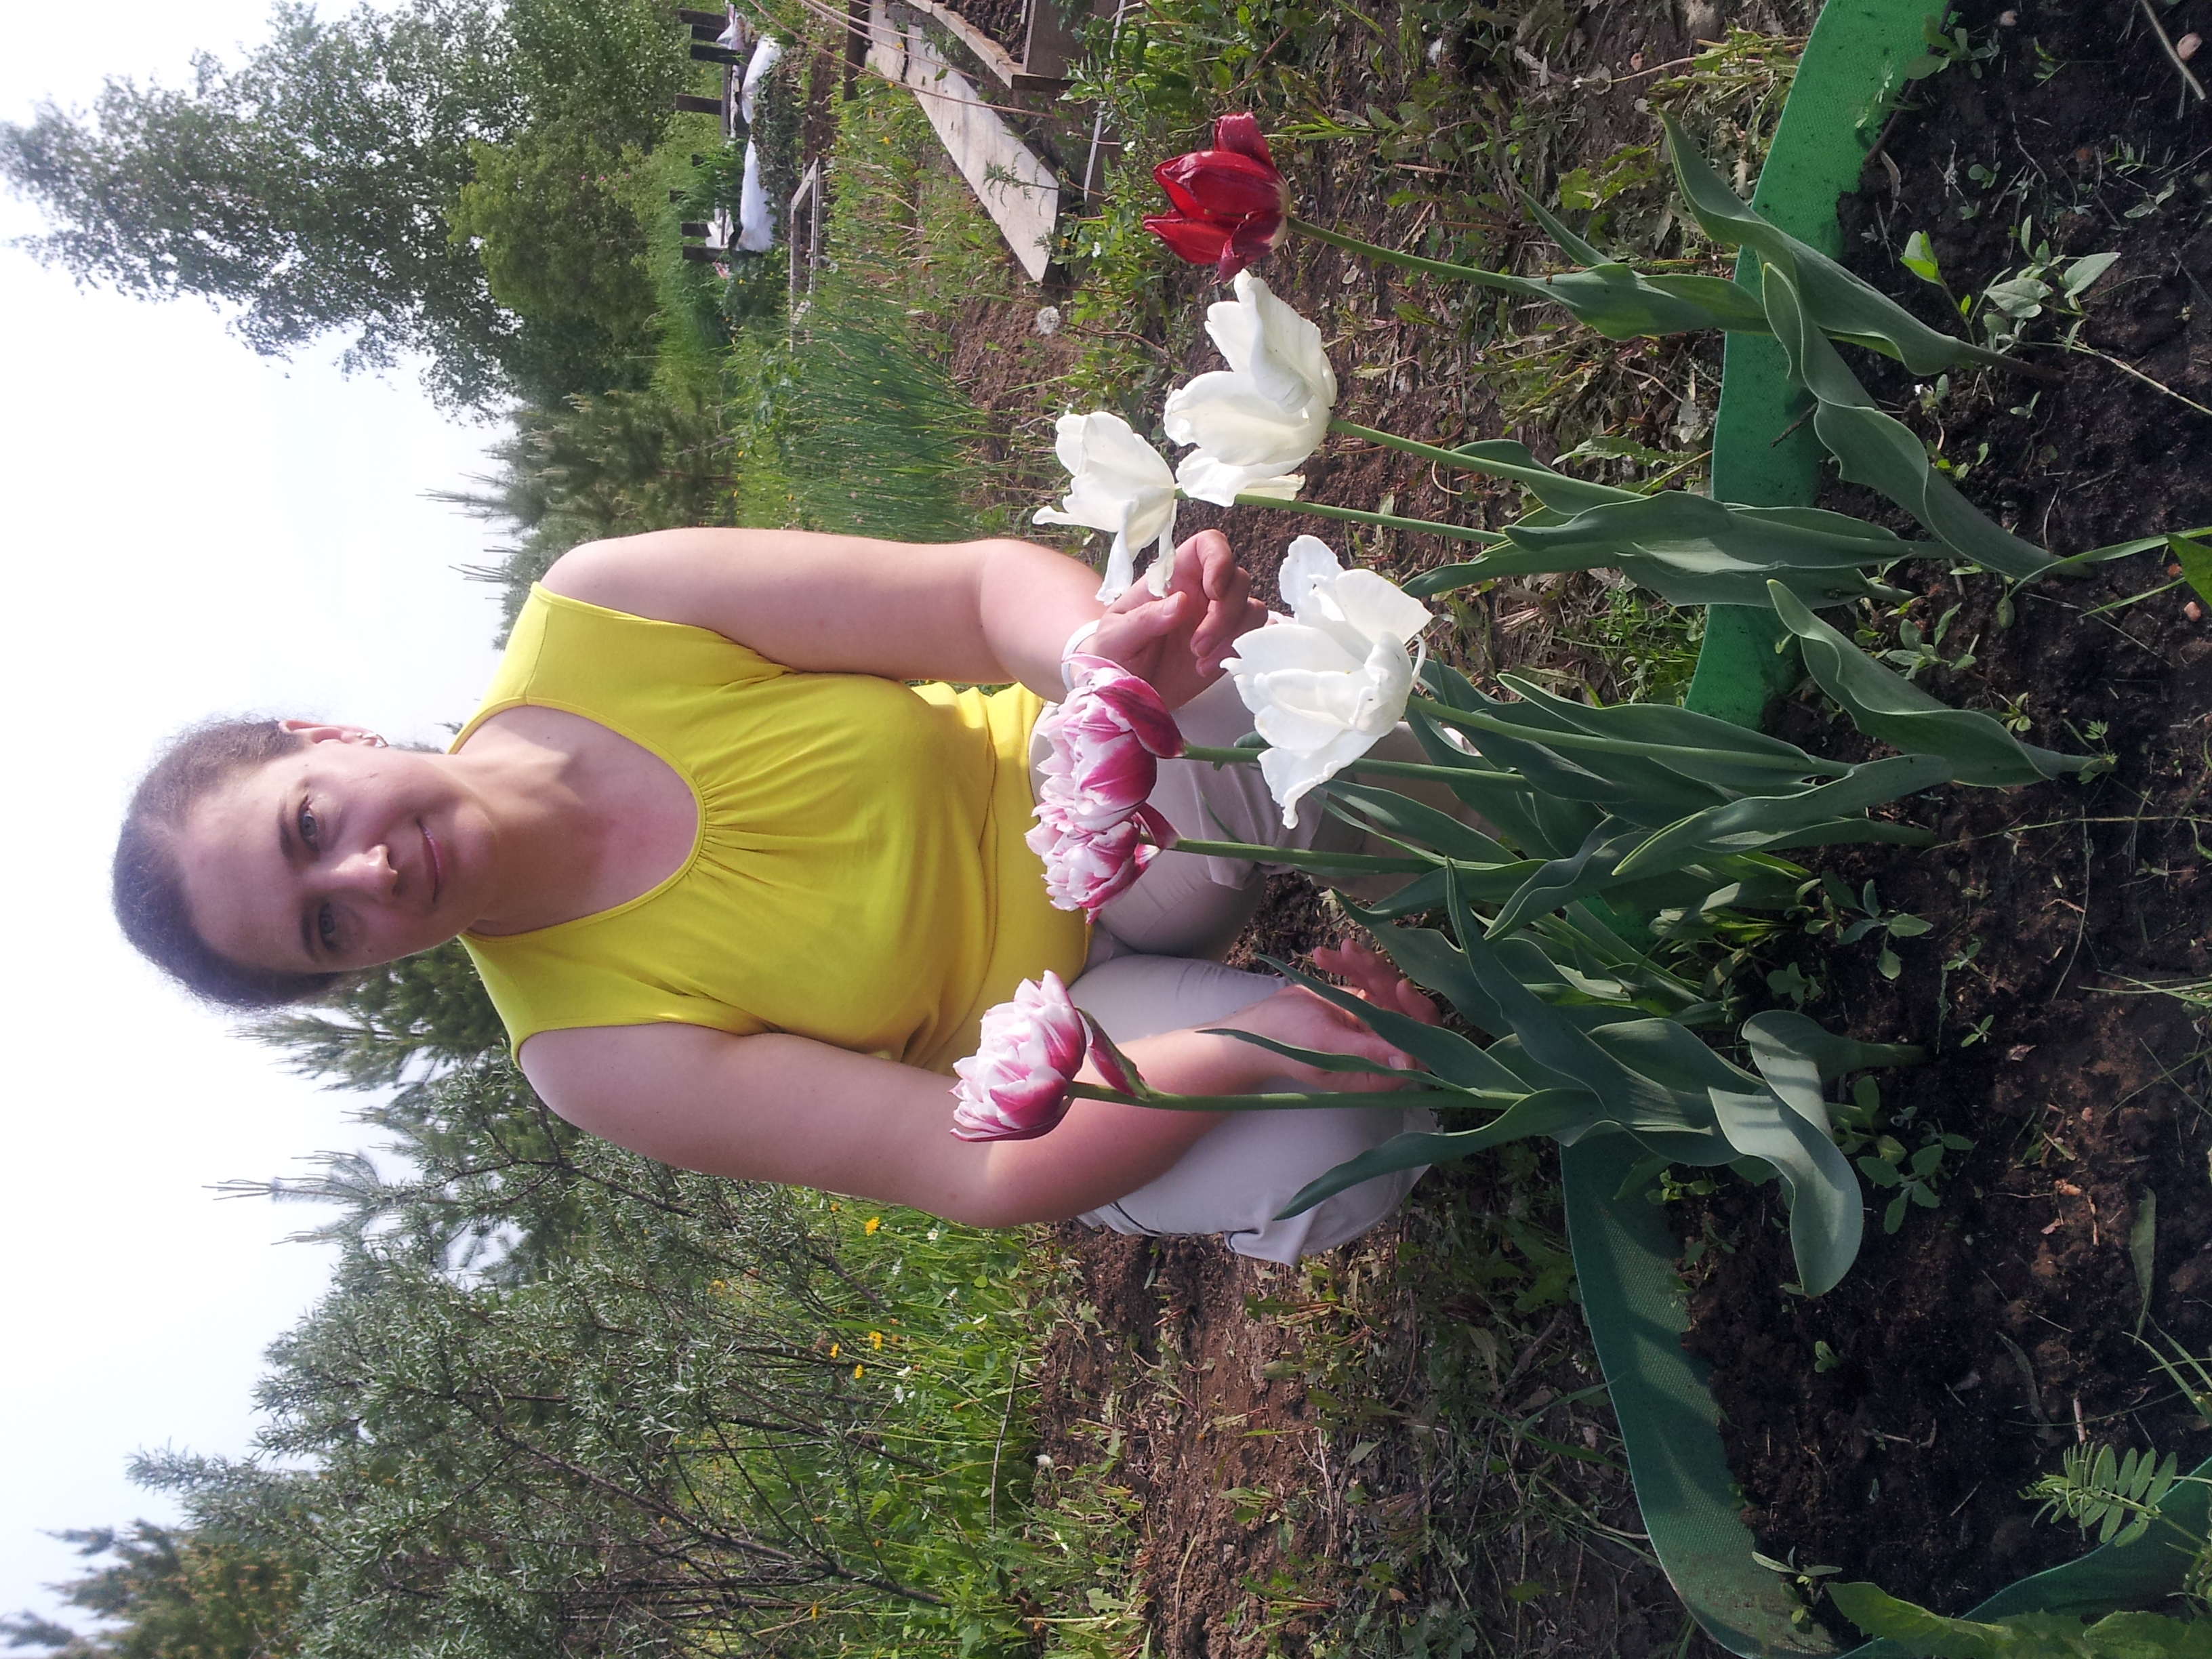
[[[239,772],[177,841],[201,938],[294,973],[392,962],[482,914],[493,830],[442,754],[358,726],[288,723],[299,754]]]

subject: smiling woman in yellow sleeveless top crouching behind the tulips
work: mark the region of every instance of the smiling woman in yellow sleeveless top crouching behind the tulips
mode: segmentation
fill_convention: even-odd
[[[580,546],[451,752],[283,721],[159,763],[117,849],[117,914],[232,1006],[458,933],[546,1104],[668,1164],[975,1225],[1225,1230],[1294,1259],[1402,1197],[1405,1177],[1270,1221],[1407,1113],[1217,1128],[1077,1102],[1031,1141],[947,1133],[951,1062],[1046,967],[1166,1091],[1347,1082],[1199,1026],[1409,1064],[1321,998],[1194,960],[1250,916],[1245,865],[1164,854],[1095,929],[1046,907],[1022,834],[1064,646],[1150,679],[1194,741],[1230,741],[1221,661],[1265,619],[1219,533],[1181,549],[1166,597],[1139,586],[1102,611],[1093,582],[1024,542],[699,529]],[[1276,814],[1237,799],[1250,774],[1168,763],[1155,805],[1183,834],[1228,814],[1256,838]],[[1427,1009],[1380,958],[1325,967]]]

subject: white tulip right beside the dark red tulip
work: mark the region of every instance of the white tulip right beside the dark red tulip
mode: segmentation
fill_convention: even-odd
[[[1336,407],[1321,330],[1243,270],[1237,299],[1206,310],[1206,332],[1228,369],[1168,394],[1168,438],[1197,445],[1175,480],[1186,495],[1221,507],[1234,507],[1239,493],[1290,500],[1305,487],[1292,469],[1321,447]]]

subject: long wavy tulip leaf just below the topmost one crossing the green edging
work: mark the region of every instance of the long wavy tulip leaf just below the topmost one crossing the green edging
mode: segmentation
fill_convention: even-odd
[[[1874,407],[1858,376],[1812,325],[1807,301],[1785,268],[1767,270],[1761,294],[1790,374],[1816,400],[1814,431],[1847,480],[1878,489],[1960,557],[2011,577],[2048,571],[2055,562],[2051,553],[1993,524],[1936,471],[1927,447],[1902,420]]]

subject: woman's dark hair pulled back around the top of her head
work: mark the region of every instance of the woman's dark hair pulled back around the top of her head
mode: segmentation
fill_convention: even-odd
[[[115,841],[115,920],[155,967],[192,995],[226,1009],[276,1009],[336,987],[343,973],[292,973],[232,962],[199,936],[184,896],[177,834],[215,790],[307,743],[270,719],[206,721],[181,732],[153,763]]]

